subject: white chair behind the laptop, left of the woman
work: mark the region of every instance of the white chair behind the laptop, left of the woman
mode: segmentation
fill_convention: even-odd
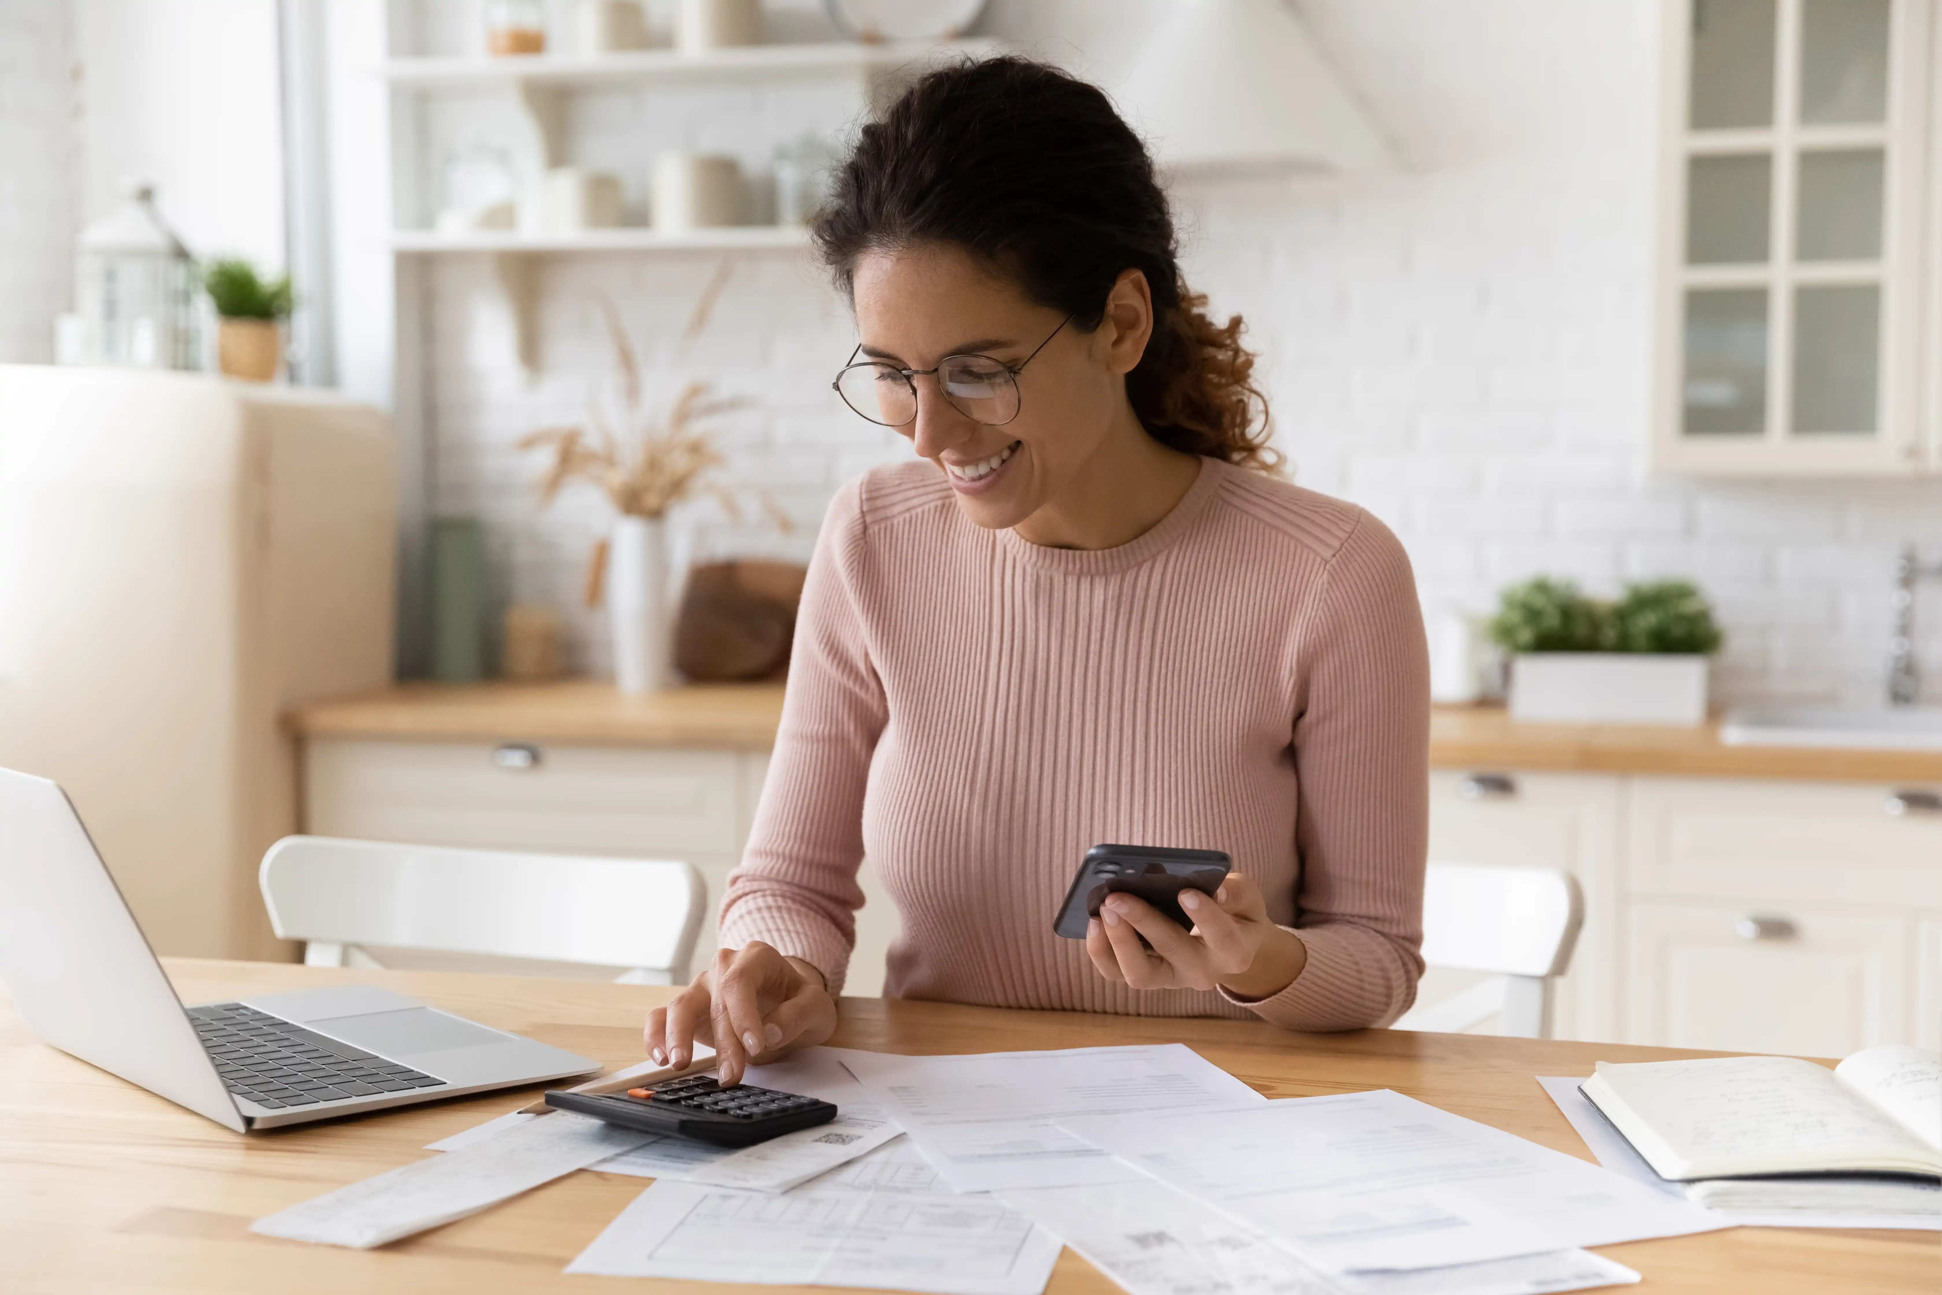
[[[311,967],[472,971],[522,959],[524,971],[548,963],[553,975],[604,971],[631,984],[687,980],[707,903],[691,864],[334,837],[284,837],[258,880],[270,924],[305,942]]]

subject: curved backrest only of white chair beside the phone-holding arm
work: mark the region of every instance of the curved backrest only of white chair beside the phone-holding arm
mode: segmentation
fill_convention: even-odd
[[[1550,868],[1429,864],[1423,961],[1456,971],[1561,977],[1571,965],[1585,897]]]

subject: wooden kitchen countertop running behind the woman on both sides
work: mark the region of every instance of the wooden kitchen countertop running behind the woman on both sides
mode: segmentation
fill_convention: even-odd
[[[701,683],[621,697],[608,683],[400,683],[291,713],[307,738],[713,746],[765,751],[783,714],[781,683]],[[1517,724],[1497,707],[1437,707],[1433,769],[1647,773],[1723,779],[1942,782],[1942,751],[1829,751],[1726,746],[1719,726]]]

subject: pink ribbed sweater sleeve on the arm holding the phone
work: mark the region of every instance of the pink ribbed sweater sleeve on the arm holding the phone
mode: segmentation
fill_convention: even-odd
[[[1301,643],[1289,930],[1309,961],[1272,998],[1227,998],[1288,1029],[1387,1025],[1423,973],[1429,648],[1408,553],[1373,516],[1330,559]]]

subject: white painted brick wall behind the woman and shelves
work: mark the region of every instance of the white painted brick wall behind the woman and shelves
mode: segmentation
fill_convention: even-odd
[[[470,4],[435,8],[427,49],[476,43]],[[988,27],[1103,64],[1136,49],[1124,25],[1154,12],[994,0]],[[1728,635],[1721,701],[1876,699],[1888,561],[1905,540],[1942,557],[1942,481],[1647,474],[1657,6],[1305,0],[1301,12],[1404,165],[1177,190],[1189,282],[1216,315],[1247,316],[1297,480],[1394,526],[1431,610],[1486,612],[1501,584],[1534,573],[1600,594],[1691,577]],[[779,122],[835,128],[841,113],[808,85],[678,101],[616,89],[586,97],[567,134],[575,159],[621,171],[639,204],[656,148],[705,144],[753,165]],[[509,363],[487,266],[449,258],[425,274],[433,509],[486,518],[509,592],[561,604],[592,670],[606,660],[602,623],[577,598],[604,505],[579,491],[536,511],[538,462],[511,445],[610,388],[594,293],[621,307],[662,398],[701,377],[757,402],[722,425],[726,480],[767,491],[802,530],[738,526],[697,503],[678,518],[697,553],[802,555],[843,480],[909,454],[829,394],[854,336],[808,256],[740,258],[707,338],[676,361],[713,268],[707,256],[538,262],[544,373],[532,384]],[[1942,588],[1925,600],[1921,652],[1942,699]]]

